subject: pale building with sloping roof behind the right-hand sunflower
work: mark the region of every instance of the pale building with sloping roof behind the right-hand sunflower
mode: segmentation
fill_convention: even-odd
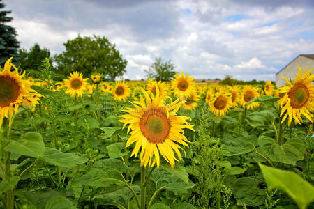
[[[285,80],[281,77],[285,77],[288,80],[294,80],[298,73],[298,66],[301,68],[314,68],[314,54],[300,54],[294,60],[292,60],[289,64],[285,66],[285,68],[281,69],[281,71],[276,74],[276,86],[284,86]],[[313,72],[312,72],[313,74]]]

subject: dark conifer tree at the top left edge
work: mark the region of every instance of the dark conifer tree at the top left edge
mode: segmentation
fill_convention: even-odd
[[[1,3],[0,9],[3,9],[6,5]],[[20,42],[16,40],[16,31],[12,26],[6,25],[7,22],[11,22],[13,17],[6,17],[11,11],[0,10],[0,65],[4,65],[7,59],[13,56],[13,61],[16,61],[17,49],[20,47]]]

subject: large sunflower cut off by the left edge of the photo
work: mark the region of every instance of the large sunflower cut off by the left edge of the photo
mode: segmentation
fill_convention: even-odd
[[[30,109],[38,104],[38,100],[42,95],[38,94],[31,88],[32,83],[27,79],[23,79],[25,72],[20,75],[17,68],[11,60],[8,59],[4,64],[4,68],[0,71],[0,127],[3,118],[9,118],[9,123],[14,112],[20,105],[27,104]],[[11,72],[11,68],[14,70]],[[0,68],[1,70],[1,68]]]

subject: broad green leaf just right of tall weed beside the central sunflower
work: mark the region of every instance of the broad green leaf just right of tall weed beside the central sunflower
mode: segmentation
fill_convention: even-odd
[[[224,155],[232,156],[250,153],[252,150],[254,150],[256,141],[257,137],[255,135],[230,139],[222,146],[223,150],[227,151],[227,153]]]

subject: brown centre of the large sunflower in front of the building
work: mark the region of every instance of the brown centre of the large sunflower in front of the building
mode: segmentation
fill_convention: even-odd
[[[288,97],[293,108],[302,107],[309,98],[308,88],[304,84],[297,84],[289,91]]]

